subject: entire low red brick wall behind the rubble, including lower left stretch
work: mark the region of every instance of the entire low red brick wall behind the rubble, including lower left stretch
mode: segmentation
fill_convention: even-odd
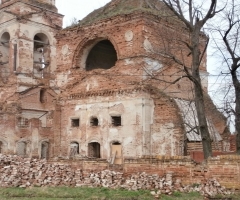
[[[59,162],[58,162],[59,163]],[[116,170],[106,160],[63,160],[73,168],[82,169],[84,174],[101,170]],[[197,164],[190,156],[161,156],[155,158],[127,158],[122,170],[124,176],[146,172],[164,176],[172,173],[173,179],[181,179],[184,185],[201,183],[209,178],[216,178],[222,186],[240,189],[240,156],[221,155]]]

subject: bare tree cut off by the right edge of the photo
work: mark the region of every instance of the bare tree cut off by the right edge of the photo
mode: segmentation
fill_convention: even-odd
[[[235,109],[231,109],[235,117],[235,129],[237,133],[236,148],[237,154],[240,154],[240,3],[237,0],[231,0],[224,12],[221,13],[220,23],[215,26],[215,31],[220,35],[221,41],[215,44],[220,51],[225,65],[225,71],[231,76],[235,94]],[[221,45],[223,44],[223,45]],[[230,90],[229,90],[230,91]]]

